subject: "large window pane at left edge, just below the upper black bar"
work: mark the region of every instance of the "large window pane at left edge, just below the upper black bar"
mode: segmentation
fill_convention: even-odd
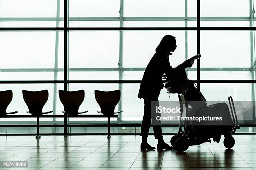
[[[0,56],[5,59],[0,67],[54,68],[55,37],[54,31],[0,32]],[[63,42],[59,41],[59,45]]]

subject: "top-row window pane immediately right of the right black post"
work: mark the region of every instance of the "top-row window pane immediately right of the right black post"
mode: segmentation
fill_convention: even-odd
[[[249,17],[249,0],[201,0],[201,17]]]

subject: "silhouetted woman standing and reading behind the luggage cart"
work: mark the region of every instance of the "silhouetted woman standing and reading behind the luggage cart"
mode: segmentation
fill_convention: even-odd
[[[169,62],[169,55],[172,55],[176,49],[176,39],[172,35],[165,35],[158,47],[156,47],[156,53],[148,63],[141,80],[140,90],[138,93],[139,98],[144,99],[144,115],[141,124],[141,150],[154,150],[147,143],[148,131],[151,125],[151,101],[159,101],[158,97],[164,84],[161,82],[164,74],[167,77],[172,77],[175,72],[183,71],[187,67],[191,67],[193,62],[190,60],[184,61],[181,65],[172,68]],[[152,117],[153,118],[153,117]],[[154,117],[155,118],[155,117]],[[158,140],[157,150],[172,150],[172,146],[164,142],[161,125],[153,125],[154,136]]]

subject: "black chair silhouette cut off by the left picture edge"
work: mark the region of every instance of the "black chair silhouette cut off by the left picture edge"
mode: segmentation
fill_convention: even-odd
[[[0,116],[1,117],[18,113],[18,111],[6,112],[6,109],[12,100],[13,100],[12,90],[0,91]]]

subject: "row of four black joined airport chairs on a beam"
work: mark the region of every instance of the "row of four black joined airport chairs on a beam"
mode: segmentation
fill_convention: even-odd
[[[28,106],[28,114],[31,117],[37,117],[37,135],[36,138],[41,138],[39,135],[39,118],[46,117],[45,114],[52,113],[53,111],[43,112],[43,107],[46,104],[49,92],[48,90],[41,91],[28,91],[22,90],[23,99]],[[110,138],[110,117],[118,117],[118,113],[122,110],[115,112],[115,106],[120,101],[120,90],[114,91],[100,91],[95,90],[95,99],[100,106],[101,115],[86,115],[88,111],[79,112],[79,107],[84,101],[84,90],[78,91],[64,91],[59,90],[59,99],[64,106],[62,111],[64,115],[64,133],[67,130],[67,117],[108,117],[108,138]],[[0,117],[27,117],[27,115],[16,115],[18,111],[6,112],[6,109],[13,98],[12,90],[0,91]],[[47,117],[60,117],[61,115],[47,115]]]

